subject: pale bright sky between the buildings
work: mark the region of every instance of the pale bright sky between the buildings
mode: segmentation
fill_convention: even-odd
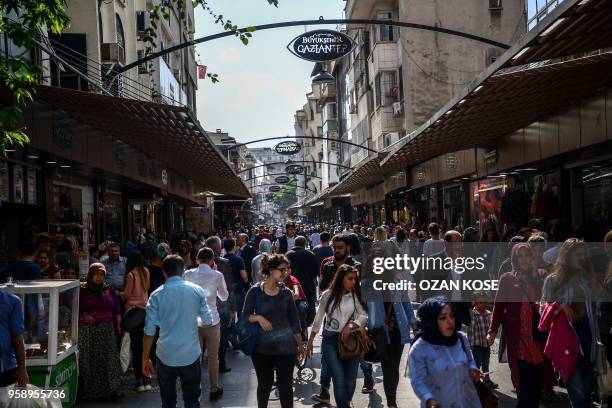
[[[266,0],[210,0],[216,13],[238,27],[293,20],[342,18],[343,0],[280,0],[278,8]],[[196,38],[223,31],[201,7],[195,11]],[[240,142],[294,135],[295,111],[306,103],[314,63],[287,50],[287,44],[310,27],[276,28],[254,32],[249,45],[227,37],[199,44],[199,62],[220,82],[198,81],[197,113],[204,129],[222,129]],[[334,29],[334,26],[318,26]],[[272,146],[274,141],[250,147]]]

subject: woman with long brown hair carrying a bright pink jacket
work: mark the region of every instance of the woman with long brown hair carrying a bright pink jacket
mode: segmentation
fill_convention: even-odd
[[[587,245],[570,238],[561,245],[553,272],[544,281],[542,289],[542,301],[546,306],[560,305],[560,311],[565,313],[580,344],[577,366],[567,382],[572,408],[591,406],[599,340],[597,294],[593,290],[599,286],[596,281]]]

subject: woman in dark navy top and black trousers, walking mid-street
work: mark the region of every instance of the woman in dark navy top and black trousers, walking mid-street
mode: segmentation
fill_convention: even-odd
[[[268,406],[276,374],[281,407],[293,406],[293,367],[296,355],[303,353],[298,311],[293,294],[283,280],[289,269],[285,255],[264,254],[261,275],[264,280],[246,294],[242,320],[257,323],[257,345],[251,356],[257,375],[257,406]]]

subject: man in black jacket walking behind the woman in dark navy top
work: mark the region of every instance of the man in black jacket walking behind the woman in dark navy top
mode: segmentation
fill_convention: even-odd
[[[305,237],[297,237],[295,246],[287,252],[286,256],[289,259],[289,266],[291,266],[291,274],[300,281],[306,295],[306,302],[308,302],[306,323],[310,326],[316,314],[315,301],[317,298],[316,287],[319,265],[315,254],[306,249],[306,243]],[[302,327],[302,329],[305,329],[305,327]]]

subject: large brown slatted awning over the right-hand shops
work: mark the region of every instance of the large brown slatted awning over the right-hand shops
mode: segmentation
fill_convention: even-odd
[[[612,84],[609,0],[565,0],[430,120],[402,139],[383,173],[486,147]]]

